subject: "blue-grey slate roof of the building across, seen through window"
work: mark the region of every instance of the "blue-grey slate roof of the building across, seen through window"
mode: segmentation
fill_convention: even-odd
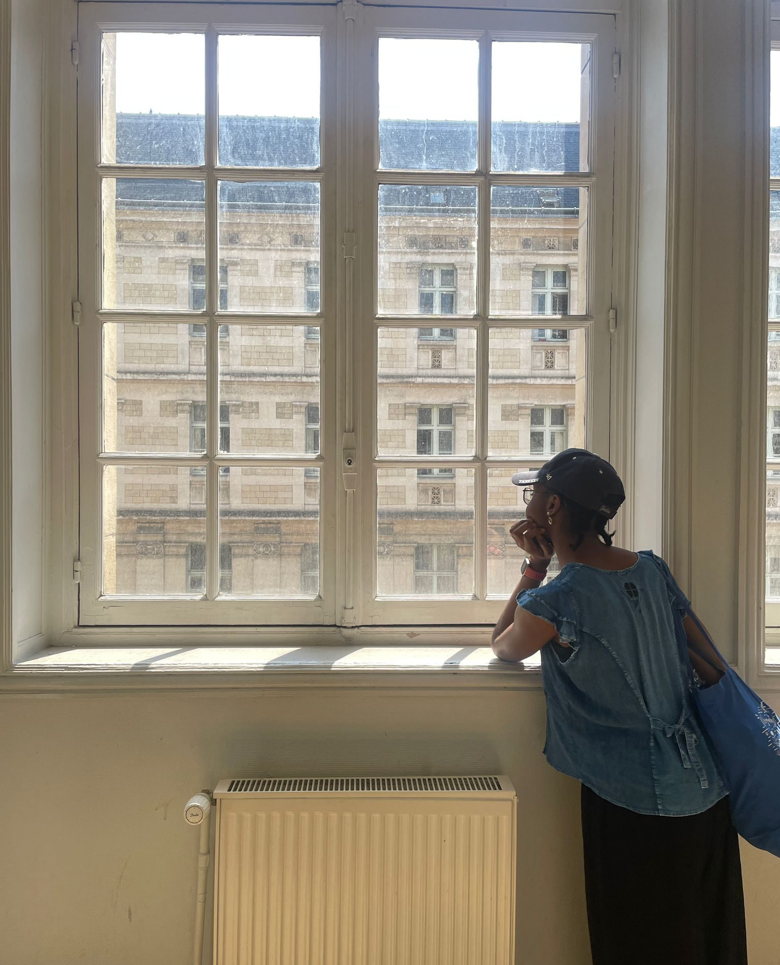
[[[252,167],[317,167],[320,163],[317,119],[226,117],[220,122],[220,160]],[[191,115],[117,115],[117,162],[120,164],[203,163],[204,120]],[[493,124],[497,168],[513,171],[576,171],[579,167],[578,124]],[[385,168],[473,171],[477,125],[453,121],[385,121],[380,124],[381,164]],[[319,187],[305,181],[237,183],[225,181],[223,210],[316,212]],[[185,179],[120,179],[118,207],[200,209],[203,184]],[[473,215],[476,190],[457,186],[387,185],[380,211],[393,213]],[[496,187],[494,217],[561,217],[575,213],[576,188],[541,192],[532,187]]]

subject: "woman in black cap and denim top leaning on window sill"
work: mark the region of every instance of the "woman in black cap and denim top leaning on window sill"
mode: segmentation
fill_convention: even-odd
[[[511,530],[527,558],[492,646],[542,650],[544,754],[582,784],[594,965],[746,965],[737,832],[676,633],[687,601],[663,561],[612,545],[626,495],[598,455],[570,449],[513,483],[528,487]],[[691,659],[698,685],[719,679]]]

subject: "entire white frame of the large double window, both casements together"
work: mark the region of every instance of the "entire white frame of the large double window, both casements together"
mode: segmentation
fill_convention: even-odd
[[[82,57],[80,76],[88,80],[88,90],[97,91],[97,24],[117,24],[121,15],[121,23],[129,24],[133,29],[154,28],[165,16],[171,23],[184,24],[191,18],[194,22],[213,22],[220,27],[238,29],[246,23],[246,13],[238,8],[207,6],[141,6],[118,4],[88,5],[86,14],[79,28],[79,41]],[[334,11],[324,7],[262,7],[256,10],[258,18],[258,32],[277,30],[279,32],[309,33],[318,26],[323,38],[322,65],[322,107],[320,117],[336,116],[336,65],[335,65],[335,28],[333,24]],[[488,265],[489,236],[485,230],[488,224],[489,205],[487,202],[489,184],[503,180],[512,182],[529,182],[544,184],[552,177],[555,183],[571,186],[586,186],[589,188],[590,215],[588,227],[588,264],[589,264],[589,292],[585,311],[579,316],[567,318],[571,329],[581,332],[587,343],[587,389],[586,407],[589,413],[587,419],[587,444],[602,453],[609,451],[610,422],[609,422],[609,371],[608,366],[599,368],[601,377],[594,378],[594,359],[608,357],[609,332],[607,324],[607,308],[611,299],[610,257],[612,244],[612,165],[614,155],[614,79],[612,77],[612,51],[615,47],[614,18],[604,14],[534,14],[525,12],[496,12],[496,11],[456,11],[448,12],[448,23],[445,29],[441,27],[440,14],[433,11],[394,11],[385,9],[363,8],[362,31],[355,31],[354,41],[354,73],[355,76],[375,76],[370,64],[372,48],[376,53],[376,36],[379,32],[385,35],[403,36],[471,36],[479,39],[483,49],[481,67],[481,83],[485,85],[488,73],[488,60],[485,51],[489,50],[489,41],[494,38],[513,39],[555,39],[564,37],[571,41],[588,41],[594,45],[594,62],[597,69],[593,73],[593,90],[598,89],[598,98],[593,95],[593,103],[598,100],[599,111],[591,113],[591,170],[587,173],[567,173],[565,175],[523,175],[498,176],[491,175],[486,166],[486,151],[488,151],[488,134],[484,121],[481,122],[481,162],[477,172],[468,175],[452,175],[436,173],[428,177],[428,183],[442,184],[473,184],[478,188],[480,208],[482,211],[480,231],[480,251],[483,267]],[[451,20],[451,22],[450,22]],[[262,24],[262,25],[261,25]],[[292,25],[292,26],[291,26]],[[159,29],[157,27],[157,29]],[[212,33],[212,28],[209,28]],[[207,36],[211,36],[209,33]],[[210,41],[209,41],[210,42]],[[211,58],[209,68],[209,56]],[[213,56],[207,59],[207,69],[213,69]],[[340,61],[340,64],[342,62]],[[366,72],[368,71],[368,72]],[[345,71],[346,72],[346,71]],[[356,83],[349,93],[348,100],[354,110],[356,129],[365,129],[365,124],[371,124],[375,130],[374,105],[376,98],[376,76],[374,84]],[[83,97],[82,97],[83,107]],[[80,111],[81,127],[79,131],[81,144],[97,144],[95,132],[97,130],[97,101],[90,108],[89,98],[87,110]],[[349,110],[349,104],[347,105]],[[383,464],[374,455],[376,441],[374,441],[375,425],[375,390],[376,379],[373,375],[376,365],[376,336],[372,337],[371,325],[366,327],[363,318],[368,308],[369,316],[378,321],[376,314],[376,260],[360,258],[353,262],[355,249],[350,247],[350,239],[359,244],[359,250],[365,251],[376,246],[376,220],[374,214],[374,189],[376,175],[372,157],[364,156],[362,148],[359,151],[345,152],[345,163],[339,165],[338,177],[342,185],[354,184],[354,194],[344,191],[344,201],[336,205],[336,136],[335,130],[327,129],[322,124],[322,168],[318,172],[305,172],[306,179],[319,179],[321,183],[321,269],[320,282],[322,287],[320,317],[323,321],[320,327],[322,340],[322,366],[320,378],[322,395],[320,400],[320,416],[322,453],[317,457],[316,464],[320,468],[321,486],[321,533],[320,561],[323,559],[337,559],[337,565],[323,568],[320,579],[320,597],[316,600],[258,598],[219,601],[209,599],[198,601],[193,607],[192,601],[175,599],[101,599],[97,592],[97,565],[99,538],[94,522],[86,522],[86,530],[82,530],[82,547],[87,557],[82,566],[81,608],[80,620],[84,625],[91,623],[108,624],[111,622],[123,625],[145,624],[154,625],[187,625],[200,622],[225,625],[258,625],[268,626],[279,624],[316,625],[389,625],[404,623],[439,623],[439,624],[484,624],[489,623],[495,616],[495,602],[486,593],[487,561],[475,568],[475,593],[468,597],[427,601],[400,600],[398,597],[381,599],[376,596],[376,467]],[[343,136],[343,130],[342,130]],[[368,143],[363,138],[361,144]],[[376,143],[374,145],[376,150]],[[85,170],[86,168],[86,170]],[[100,166],[80,164],[79,193],[82,198],[96,197],[95,179]],[[181,177],[186,177],[187,170],[179,169]],[[117,172],[121,174],[121,171]],[[193,172],[200,175],[201,172]],[[253,179],[274,179],[278,173],[264,171],[250,171],[242,169],[240,174],[247,179],[251,174]],[[381,180],[386,181],[383,174]],[[213,177],[209,171],[208,177]],[[396,178],[396,182],[408,179],[405,173]],[[392,177],[390,178],[392,180]],[[90,194],[90,192],[92,192]],[[365,202],[370,203],[366,206]],[[87,205],[89,208],[90,206]],[[357,219],[354,212],[363,212]],[[598,217],[594,214],[598,212]],[[330,225],[335,230],[326,230],[326,219],[330,218]],[[82,238],[98,236],[99,224],[97,207],[93,206],[86,215],[82,214],[84,233]],[[337,245],[338,239],[338,245]],[[580,241],[580,248],[583,242]],[[599,253],[599,257],[595,257]],[[337,254],[345,255],[345,260],[337,262]],[[81,261],[89,255],[89,246],[82,242]],[[215,262],[214,239],[207,233],[207,262],[209,271],[217,271]],[[353,270],[357,268],[358,270]],[[343,272],[343,274],[342,274]],[[94,273],[97,275],[97,273]],[[338,279],[338,289],[337,289]],[[369,284],[367,281],[370,279]],[[97,278],[92,280],[92,289],[97,292]],[[583,281],[584,284],[584,281]],[[87,285],[89,289],[90,285]],[[354,291],[354,294],[352,292]],[[362,301],[358,300],[358,294]],[[532,330],[539,325],[538,317],[490,317],[488,315],[489,279],[485,270],[478,280],[478,312],[474,317],[466,320],[456,317],[452,325],[447,328],[472,327],[477,328],[478,338],[482,347],[478,350],[479,373],[477,377],[478,393],[487,392],[488,328],[515,325],[518,328]],[[85,320],[97,315],[97,293],[92,297],[82,297]],[[107,316],[109,313],[101,313]],[[204,320],[209,316],[204,313]],[[212,307],[210,317],[219,317],[219,312]],[[299,323],[311,319],[311,314],[300,317]],[[330,324],[328,324],[328,319]],[[188,320],[188,319],[187,319]],[[227,319],[226,319],[227,320]],[[240,317],[229,317],[231,325],[241,323]],[[256,319],[254,319],[256,321]],[[264,319],[271,323],[270,317]],[[285,323],[293,317],[285,316]],[[388,318],[390,323],[400,319]],[[417,319],[404,319],[407,327],[419,327]],[[277,322],[278,323],[278,322]],[[94,329],[94,324],[92,328]],[[376,328],[376,326],[375,326]],[[340,333],[340,334],[339,334]],[[435,333],[434,333],[435,334]],[[440,335],[440,330],[439,330]],[[368,336],[368,337],[367,337]],[[82,349],[82,362],[85,372],[98,372],[99,352],[95,339],[95,332],[90,331],[89,324],[82,328],[85,343]],[[351,351],[345,352],[341,358],[336,356],[338,338],[342,345],[351,345]],[[427,340],[426,340],[427,341]],[[445,341],[442,339],[442,341]],[[451,341],[447,339],[446,341]],[[216,366],[217,346],[213,343],[209,329],[207,339],[209,365]],[[604,349],[607,349],[606,351]],[[599,363],[600,367],[600,363]],[[326,387],[332,391],[327,391]],[[97,393],[88,391],[86,398],[81,400],[81,410],[86,418],[82,422],[85,429],[86,445],[82,449],[82,480],[86,481],[83,489],[84,505],[96,506],[98,501],[97,473],[95,459],[97,457]],[[216,400],[209,394],[209,406],[216,404]],[[92,413],[92,414],[90,414]],[[337,422],[338,414],[338,422]],[[333,458],[337,451],[337,440],[341,436],[342,462],[341,470]],[[442,457],[448,464],[454,463],[453,468],[470,468],[475,471],[475,482],[478,494],[475,504],[475,546],[477,556],[484,556],[482,543],[485,539],[487,527],[487,470],[488,464],[496,468],[500,464],[514,464],[518,459],[503,459],[495,457],[488,459],[488,430],[487,412],[485,419],[476,426],[478,455],[465,459]],[[210,441],[212,449],[215,440]],[[103,458],[103,461],[106,461]],[[181,460],[180,460],[181,461]],[[191,461],[191,460],[190,460]],[[207,460],[204,460],[207,461]],[[238,460],[236,460],[238,461]],[[284,464],[295,464],[296,459],[284,458],[278,460]],[[404,462],[404,460],[401,460]],[[523,463],[535,460],[520,459]],[[399,460],[391,460],[390,464],[398,464]],[[410,458],[409,468],[418,468],[419,459]],[[301,463],[303,464],[303,463]],[[311,460],[308,463],[312,464]],[[209,463],[211,465],[211,463]],[[352,473],[352,467],[358,470]],[[442,468],[444,467],[436,467]],[[449,472],[449,469],[444,469]],[[212,475],[215,469],[209,469]],[[211,477],[209,476],[209,479]],[[362,490],[350,488],[355,480],[362,481]],[[345,492],[346,489],[346,492]],[[209,500],[213,504],[218,499],[218,487],[211,480]],[[89,519],[89,513],[83,515]],[[352,534],[349,546],[344,534]],[[215,534],[209,530],[208,539],[211,544]],[[341,555],[336,557],[336,548],[340,548]],[[213,553],[209,555],[212,561]],[[218,574],[215,572],[214,562],[209,564],[209,587],[212,595],[218,586]],[[230,612],[228,612],[230,611]]]

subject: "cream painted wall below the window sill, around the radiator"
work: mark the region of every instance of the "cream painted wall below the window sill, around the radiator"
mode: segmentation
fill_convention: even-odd
[[[477,772],[519,798],[517,965],[588,965],[578,785],[545,763],[543,728],[528,691],[5,696],[0,960],[189,965],[181,811],[219,778]],[[748,849],[745,884],[750,963],[777,965],[780,861]]]

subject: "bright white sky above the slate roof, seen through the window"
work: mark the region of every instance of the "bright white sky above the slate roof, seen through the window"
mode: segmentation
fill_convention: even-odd
[[[317,37],[220,37],[220,112],[317,117],[319,45]],[[476,41],[382,38],[380,116],[476,121],[478,56]],[[203,114],[204,61],[202,34],[117,34],[117,111]],[[580,63],[578,43],[494,43],[493,120],[578,121]]]

